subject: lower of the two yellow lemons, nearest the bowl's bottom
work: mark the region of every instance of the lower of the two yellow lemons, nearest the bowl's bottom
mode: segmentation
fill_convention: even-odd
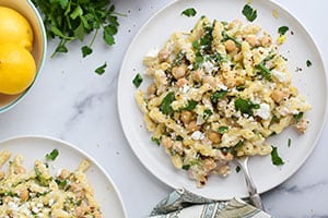
[[[34,81],[36,65],[33,56],[15,44],[0,44],[0,93],[15,95]]]

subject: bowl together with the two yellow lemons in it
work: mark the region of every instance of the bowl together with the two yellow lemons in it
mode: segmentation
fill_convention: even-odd
[[[46,50],[46,31],[34,4],[30,0],[0,0],[0,113],[31,90]]]

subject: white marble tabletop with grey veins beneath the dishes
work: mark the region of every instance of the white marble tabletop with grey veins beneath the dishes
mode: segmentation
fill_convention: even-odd
[[[94,55],[82,59],[80,45],[50,59],[55,41],[49,43],[46,64],[28,96],[0,114],[0,140],[36,134],[65,140],[84,149],[110,174],[118,186],[128,217],[145,217],[172,190],[157,181],[140,164],[120,128],[116,87],[126,49],[141,25],[171,0],[115,0],[120,17],[116,45],[107,49],[102,40]],[[277,0],[291,11],[313,35],[324,62],[328,62],[328,1]],[[107,61],[99,76],[94,69]],[[305,165],[286,182],[262,195],[268,213],[274,217],[328,217],[328,128]]]

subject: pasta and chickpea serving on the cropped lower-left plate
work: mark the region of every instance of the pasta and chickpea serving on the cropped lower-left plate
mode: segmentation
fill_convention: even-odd
[[[82,160],[77,170],[60,170],[52,177],[47,165],[36,160],[27,171],[23,157],[10,160],[0,152],[0,217],[3,218],[101,218],[99,205],[84,172],[90,162]],[[2,166],[9,161],[8,171]]]

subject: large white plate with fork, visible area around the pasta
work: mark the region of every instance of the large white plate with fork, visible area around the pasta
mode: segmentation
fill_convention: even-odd
[[[131,148],[141,162],[167,185],[184,186],[194,193],[215,199],[247,196],[243,174],[236,173],[233,169],[232,174],[226,179],[212,175],[204,187],[196,187],[195,181],[188,179],[186,171],[176,170],[164,150],[151,142],[151,134],[145,129],[142,113],[133,97],[137,89],[132,80],[137,73],[143,74],[144,72],[143,56],[153,48],[161,48],[172,33],[190,31],[201,15],[207,15],[210,20],[241,19],[246,22],[242,14],[245,4],[246,0],[185,0],[167,5],[155,14],[134,37],[124,59],[118,81],[118,111],[121,125]],[[197,15],[195,17],[181,16],[181,11],[190,7],[197,10]],[[282,25],[290,27],[286,34],[288,39],[281,46],[280,51],[289,60],[293,84],[313,106],[313,109],[306,113],[311,124],[304,135],[297,135],[289,129],[281,135],[270,138],[271,143],[279,147],[279,154],[285,161],[282,167],[273,166],[269,156],[250,159],[251,175],[258,191],[262,193],[290,178],[314,149],[326,119],[327,84],[319,51],[300,22],[271,1],[253,0],[251,7],[258,10],[255,23],[273,38],[277,38],[278,27]],[[278,19],[272,15],[273,11],[279,14]],[[313,65],[306,66],[306,60],[311,60]],[[297,68],[302,71],[296,72]],[[145,89],[149,81],[145,80],[140,88]],[[288,146],[289,138],[292,140],[290,147]]]

